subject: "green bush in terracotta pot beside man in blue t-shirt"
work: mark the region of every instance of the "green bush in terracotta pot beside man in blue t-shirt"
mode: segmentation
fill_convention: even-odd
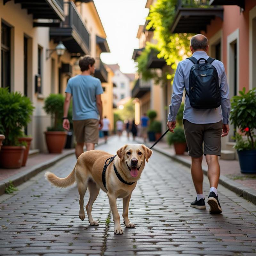
[[[64,100],[62,94],[52,93],[44,101],[44,111],[51,115],[53,123],[44,132],[49,153],[61,153],[66,143],[67,132],[62,128]]]

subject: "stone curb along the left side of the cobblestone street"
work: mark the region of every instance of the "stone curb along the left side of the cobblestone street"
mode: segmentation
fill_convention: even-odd
[[[99,144],[95,145],[95,148],[98,146],[104,144],[104,142],[100,142]],[[44,171],[45,169],[51,167],[52,165],[56,164],[59,162],[61,159],[75,154],[75,149],[70,149],[70,151],[62,153],[59,156],[56,156],[44,163],[37,164],[35,166],[32,166],[31,168],[24,170],[23,172],[17,173],[7,179],[1,180],[0,181],[0,196],[5,193],[5,188],[10,185],[10,180],[12,181],[12,184],[16,187],[19,186],[20,184],[28,181],[30,178],[34,177],[36,174],[39,172]]]

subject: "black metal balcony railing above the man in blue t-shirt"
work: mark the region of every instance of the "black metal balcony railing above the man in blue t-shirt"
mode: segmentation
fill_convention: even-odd
[[[84,26],[81,15],[76,10],[76,5],[73,2],[65,2],[64,4],[69,5],[68,15],[64,21],[65,27],[71,27],[75,29],[83,39],[84,43],[87,45],[88,49],[90,49],[90,34]]]

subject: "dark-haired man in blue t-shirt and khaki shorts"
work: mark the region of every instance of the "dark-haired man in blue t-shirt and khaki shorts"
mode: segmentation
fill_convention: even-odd
[[[90,56],[80,59],[81,75],[68,80],[64,103],[63,128],[69,130],[68,108],[73,97],[73,128],[76,136],[76,158],[86,150],[93,150],[98,143],[99,129],[102,129],[102,102],[100,94],[103,89],[100,79],[93,77],[95,60]],[[100,119],[99,119],[100,116]],[[99,127],[100,125],[100,127]]]

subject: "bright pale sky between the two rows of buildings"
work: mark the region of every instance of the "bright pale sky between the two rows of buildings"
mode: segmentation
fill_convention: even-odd
[[[133,49],[139,48],[136,38],[139,25],[145,24],[147,0],[94,0],[107,34],[111,53],[102,53],[106,64],[118,63],[123,73],[136,71],[132,60]]]

